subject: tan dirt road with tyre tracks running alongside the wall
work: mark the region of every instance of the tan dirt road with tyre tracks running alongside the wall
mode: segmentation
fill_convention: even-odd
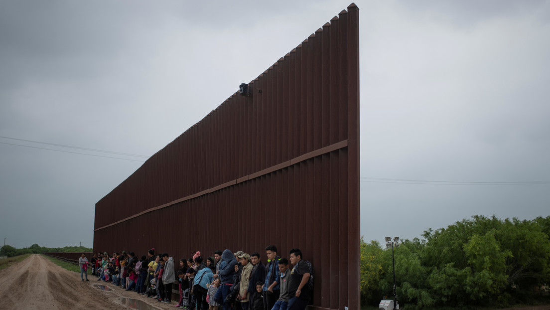
[[[88,275],[68,271],[42,255],[30,255],[23,262],[0,271],[0,309],[175,309],[135,292],[127,292]],[[103,291],[98,285],[112,290]],[[131,299],[130,299],[131,298]]]

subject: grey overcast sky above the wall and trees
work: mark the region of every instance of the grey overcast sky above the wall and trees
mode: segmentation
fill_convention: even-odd
[[[361,235],[550,215],[550,2],[355,3]],[[92,247],[98,200],[349,4],[0,0],[0,237]]]

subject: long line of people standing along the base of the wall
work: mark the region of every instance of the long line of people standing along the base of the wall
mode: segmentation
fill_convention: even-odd
[[[303,310],[313,290],[313,267],[293,248],[289,259],[277,254],[276,246],[265,249],[267,264],[260,253],[229,249],[202,257],[179,260],[179,269],[168,253],[155,254],[155,248],[140,258],[134,252],[94,254],[79,259],[80,278],[89,281],[87,267],[97,281],[111,282],[158,302],[172,303],[172,285],[179,286],[175,307],[188,310]],[[292,269],[290,269],[292,265]],[[84,279],[84,275],[86,279]]]

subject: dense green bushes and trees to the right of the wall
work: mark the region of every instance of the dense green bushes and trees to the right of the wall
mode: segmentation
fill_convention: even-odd
[[[548,233],[550,216],[532,221],[473,216],[445,229],[428,229],[424,240],[405,240],[394,249],[399,302],[406,309],[425,309],[540,300],[540,287],[550,283]],[[361,239],[361,300],[370,302],[393,296],[392,249],[376,243],[375,251],[367,247],[371,244]],[[380,259],[378,273],[367,268]],[[373,285],[377,279],[378,287]]]

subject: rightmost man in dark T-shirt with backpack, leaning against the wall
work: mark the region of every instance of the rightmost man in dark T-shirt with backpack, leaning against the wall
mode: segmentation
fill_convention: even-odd
[[[302,262],[302,251],[298,248],[290,250],[290,263],[294,268],[290,271],[287,310],[304,310],[311,298],[311,291],[306,285],[310,277],[309,265]]]

